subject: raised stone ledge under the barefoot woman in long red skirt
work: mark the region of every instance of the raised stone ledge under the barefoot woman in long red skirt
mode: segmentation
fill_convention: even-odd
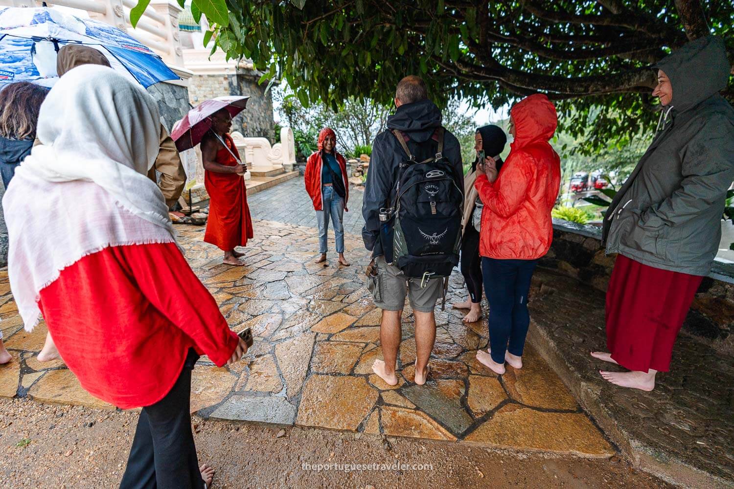
[[[624,369],[589,355],[606,350],[604,293],[542,268],[533,279],[528,342],[625,457],[685,488],[731,487],[734,356],[680,334],[654,391],[614,386],[599,369]]]

